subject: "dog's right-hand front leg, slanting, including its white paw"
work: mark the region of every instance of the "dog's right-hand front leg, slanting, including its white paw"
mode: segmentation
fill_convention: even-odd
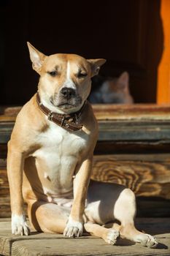
[[[85,199],[90,181],[92,162],[93,157],[85,159],[74,178],[74,201],[69,221],[67,222],[66,228],[63,232],[64,236],[82,236],[82,215],[85,210]]]

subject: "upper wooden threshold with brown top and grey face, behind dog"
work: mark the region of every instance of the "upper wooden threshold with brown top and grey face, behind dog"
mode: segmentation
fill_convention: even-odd
[[[20,108],[1,110],[0,143],[7,143]],[[158,105],[93,105],[98,140],[158,141],[170,143],[170,107]]]

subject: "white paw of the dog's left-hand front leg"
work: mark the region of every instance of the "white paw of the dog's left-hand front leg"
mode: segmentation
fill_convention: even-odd
[[[19,236],[28,236],[30,234],[30,229],[26,223],[26,217],[24,215],[12,214],[12,234]]]

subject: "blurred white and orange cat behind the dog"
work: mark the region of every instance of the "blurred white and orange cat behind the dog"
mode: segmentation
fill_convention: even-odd
[[[88,100],[92,104],[133,104],[134,99],[128,86],[128,72],[119,78],[103,78],[99,75],[92,80],[92,89]]]

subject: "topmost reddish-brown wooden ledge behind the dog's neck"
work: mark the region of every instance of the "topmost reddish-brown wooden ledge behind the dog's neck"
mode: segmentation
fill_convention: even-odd
[[[0,121],[15,121],[22,107],[0,108]],[[170,105],[135,104],[135,105],[93,105],[98,120],[131,120],[131,119],[166,119],[170,120]]]

